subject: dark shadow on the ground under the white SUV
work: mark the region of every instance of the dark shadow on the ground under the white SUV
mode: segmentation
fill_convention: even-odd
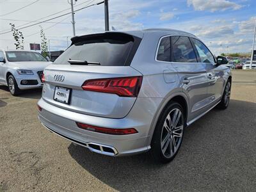
[[[9,93],[10,97],[13,97],[8,90],[8,86],[0,85],[0,90],[3,90],[4,92]],[[18,95],[17,97],[40,99],[41,96],[42,96],[42,88],[36,88],[36,89],[31,89],[31,90],[22,90],[20,95]]]

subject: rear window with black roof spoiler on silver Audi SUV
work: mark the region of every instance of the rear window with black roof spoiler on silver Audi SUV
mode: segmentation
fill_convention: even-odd
[[[134,45],[131,35],[100,34],[74,40],[54,64],[68,64],[68,60],[100,63],[100,66],[124,66]],[[92,64],[93,65],[93,64]]]

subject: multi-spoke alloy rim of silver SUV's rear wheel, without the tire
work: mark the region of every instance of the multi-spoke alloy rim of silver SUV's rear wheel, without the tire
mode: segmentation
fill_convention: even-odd
[[[166,116],[161,132],[161,150],[164,157],[170,158],[180,147],[184,121],[180,109],[175,108]]]

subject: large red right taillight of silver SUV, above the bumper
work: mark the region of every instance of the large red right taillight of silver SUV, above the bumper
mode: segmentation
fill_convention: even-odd
[[[142,76],[118,77],[109,79],[91,79],[84,82],[83,90],[114,93],[120,97],[138,97]]]

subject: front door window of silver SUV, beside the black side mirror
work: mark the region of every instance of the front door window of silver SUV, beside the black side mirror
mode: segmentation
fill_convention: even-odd
[[[196,51],[198,52],[199,62],[215,63],[214,57],[212,56],[209,49],[204,44],[202,44],[202,42],[196,40],[195,38],[192,38],[192,39],[193,39],[193,43],[195,44]]]

